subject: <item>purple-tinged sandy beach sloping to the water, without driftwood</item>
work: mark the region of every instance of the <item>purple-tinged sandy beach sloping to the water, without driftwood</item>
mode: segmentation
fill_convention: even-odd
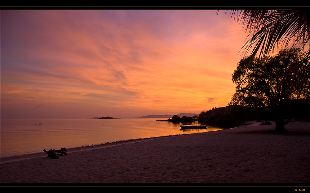
[[[3,157],[1,184],[309,184],[309,122],[289,123],[287,133],[259,124],[73,148],[59,159]]]

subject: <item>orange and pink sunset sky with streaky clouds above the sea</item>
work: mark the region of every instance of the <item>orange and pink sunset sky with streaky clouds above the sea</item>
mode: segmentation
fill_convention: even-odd
[[[247,34],[217,10],[1,10],[1,118],[225,107]]]

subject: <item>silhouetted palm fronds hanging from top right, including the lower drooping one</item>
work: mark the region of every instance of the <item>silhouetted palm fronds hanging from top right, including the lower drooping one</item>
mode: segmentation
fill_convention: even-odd
[[[226,14],[227,10],[224,12]],[[271,107],[275,111],[276,100],[281,98],[281,90],[286,89],[291,94],[299,93],[305,87],[304,82],[310,78],[310,11],[231,10],[230,15],[234,15],[237,22],[242,23],[245,31],[249,32],[248,40],[241,48],[244,55],[252,50],[247,66],[257,53],[259,57],[265,57],[279,46],[287,48],[292,44],[292,48],[300,47],[301,52],[308,49],[300,62],[285,71],[272,102]],[[280,121],[283,123],[283,120]]]

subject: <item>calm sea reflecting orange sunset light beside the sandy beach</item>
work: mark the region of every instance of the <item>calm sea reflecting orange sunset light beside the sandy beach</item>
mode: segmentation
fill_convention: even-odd
[[[1,119],[0,157],[221,129],[208,126],[180,130],[179,124],[155,120],[158,119]]]

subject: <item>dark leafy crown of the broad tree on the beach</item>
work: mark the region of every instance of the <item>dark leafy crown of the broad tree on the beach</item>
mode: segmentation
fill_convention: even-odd
[[[288,99],[309,99],[309,79],[303,78],[298,84],[293,79],[282,83],[285,72],[303,56],[300,48],[283,49],[274,57],[255,57],[248,66],[250,56],[244,57],[232,74],[232,82],[237,87],[229,105],[266,107]]]

